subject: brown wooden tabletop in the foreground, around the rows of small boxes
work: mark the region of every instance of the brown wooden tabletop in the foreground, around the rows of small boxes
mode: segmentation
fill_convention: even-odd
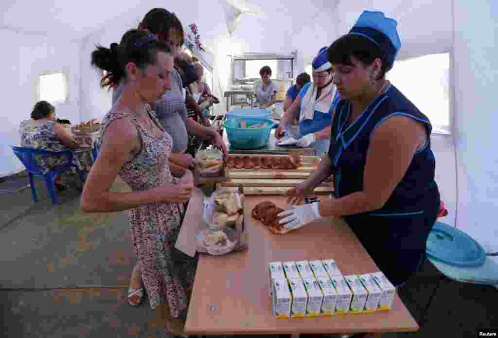
[[[246,196],[249,249],[226,256],[201,254],[187,315],[188,334],[351,334],[417,331],[417,323],[396,295],[390,311],[304,319],[275,319],[268,295],[268,263],[335,259],[344,275],[378,271],[358,238],[340,219],[320,219],[285,235],[274,235],[250,212],[263,200],[286,207],[282,196]],[[202,192],[192,197],[182,232],[195,233]],[[190,235],[190,234],[189,234]]]

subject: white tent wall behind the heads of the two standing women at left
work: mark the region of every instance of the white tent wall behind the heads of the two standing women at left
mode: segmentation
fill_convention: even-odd
[[[141,1],[140,4],[128,13],[115,18],[106,24],[106,27],[86,36],[81,42],[81,97],[80,115],[82,120],[102,118],[111,108],[111,92],[100,88],[101,73],[90,66],[90,55],[96,44],[109,47],[112,42],[121,40],[124,32],[136,28],[145,13],[154,7],[164,7],[174,12],[183,24],[196,23],[201,35],[201,41],[214,55],[214,83],[213,94],[223,98],[222,90],[228,85],[230,59],[226,57],[229,51],[228,31],[224,19],[223,9],[218,1],[190,1],[171,2],[167,6],[157,1]],[[222,78],[219,78],[219,74]],[[220,86],[222,88],[220,88]],[[220,100],[223,102],[224,100]],[[224,107],[224,103],[215,106]],[[223,109],[216,107],[217,109]]]

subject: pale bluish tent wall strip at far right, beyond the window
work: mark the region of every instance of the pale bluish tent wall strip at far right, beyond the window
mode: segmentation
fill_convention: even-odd
[[[498,251],[498,2],[455,0],[454,13],[457,226]]]

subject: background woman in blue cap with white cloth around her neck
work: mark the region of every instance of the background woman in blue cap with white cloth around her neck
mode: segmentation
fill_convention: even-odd
[[[292,106],[285,112],[275,135],[283,137],[285,125],[294,124],[299,117],[299,136],[310,135],[310,147],[315,154],[325,155],[330,144],[330,123],[334,100],[337,101],[336,87],[332,83],[332,65],[327,60],[327,47],[318,51],[312,62],[313,82],[305,84]],[[298,138],[294,137],[294,138]]]

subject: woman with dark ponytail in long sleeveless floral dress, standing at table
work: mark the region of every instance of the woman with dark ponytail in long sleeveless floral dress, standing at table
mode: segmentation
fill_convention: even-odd
[[[103,87],[123,80],[124,88],[102,121],[99,157],[83,191],[82,210],[130,210],[133,247],[150,306],[157,309],[164,304],[171,318],[183,321],[196,260],[174,244],[183,203],[192,195],[193,177],[189,170],[169,167],[172,138],[147,109],[147,102],[158,100],[171,88],[171,51],[155,35],[132,29],[119,45],[98,46],[92,64],[108,72]],[[110,191],[117,175],[132,192]]]

